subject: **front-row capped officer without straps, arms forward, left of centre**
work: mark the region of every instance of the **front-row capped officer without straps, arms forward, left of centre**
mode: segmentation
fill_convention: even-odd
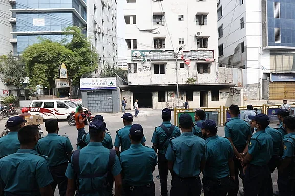
[[[158,163],[157,155],[152,148],[141,144],[142,137],[142,126],[133,124],[129,133],[131,146],[120,155],[124,173],[123,187],[128,196],[155,195],[153,172]]]

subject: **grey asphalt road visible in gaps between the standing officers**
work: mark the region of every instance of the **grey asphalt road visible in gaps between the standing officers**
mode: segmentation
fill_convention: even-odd
[[[127,111],[130,112],[132,114],[134,114],[134,110],[130,110]],[[122,122],[122,113],[117,113],[117,114],[102,114],[104,117],[104,120],[106,121],[107,124],[107,128],[109,129],[110,133],[111,133],[111,137],[113,140],[113,143],[115,141],[115,135],[116,135],[116,131],[122,127],[124,127],[123,122]],[[6,119],[3,119],[2,121],[0,121],[0,125],[3,124],[2,129],[4,129],[4,123],[5,123]],[[154,128],[156,126],[159,126],[162,122],[161,119],[161,110],[152,110],[152,109],[142,109],[139,112],[138,118],[134,118],[133,123],[138,123],[141,124],[143,127],[143,132],[144,132],[144,136],[146,138],[146,143],[145,145],[152,145],[151,143],[151,139],[152,139],[152,135],[154,132]],[[174,122],[174,116],[172,116],[171,118],[171,122]],[[43,136],[46,136],[47,132],[45,131],[45,127],[44,125],[41,126],[44,132]],[[275,125],[273,125],[273,127],[275,127]],[[85,131],[88,132],[88,126],[85,127]],[[219,127],[218,128],[218,132],[217,134],[219,136],[224,136],[224,127]],[[73,148],[76,149],[76,143],[77,143],[77,136],[78,136],[78,131],[76,129],[76,127],[71,127],[68,125],[67,121],[60,121],[59,122],[59,135],[67,135],[73,145]],[[161,195],[160,192],[160,180],[158,180],[156,178],[156,176],[158,175],[158,168],[156,167],[155,172],[154,172],[154,182],[156,185],[156,194],[155,195]],[[201,174],[202,177],[202,174]],[[277,170],[275,171],[275,173],[272,174],[272,179],[273,179],[273,184],[277,184]],[[171,180],[171,176],[169,175],[169,179],[168,181],[170,182]],[[239,179],[240,182],[240,187],[242,186],[241,183],[241,179]],[[168,185],[170,186],[170,183],[168,183]],[[277,187],[274,187],[275,190],[277,189]],[[170,187],[168,188],[170,189]],[[59,195],[58,190],[55,191],[54,195]]]

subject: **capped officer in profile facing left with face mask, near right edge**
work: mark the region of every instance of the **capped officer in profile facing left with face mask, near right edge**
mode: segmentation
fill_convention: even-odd
[[[243,159],[245,171],[245,195],[268,195],[267,181],[269,178],[268,162],[273,156],[272,137],[265,132],[269,118],[265,114],[248,116],[252,120],[255,134],[250,139],[248,153]]]

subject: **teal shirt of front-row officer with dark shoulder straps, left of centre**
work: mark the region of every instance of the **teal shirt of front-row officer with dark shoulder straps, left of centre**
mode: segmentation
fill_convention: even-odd
[[[87,146],[80,150],[80,174],[104,173],[107,171],[110,150],[103,147],[101,142],[90,142]],[[72,157],[73,158],[73,157]],[[112,166],[111,173],[117,176],[121,173],[121,165],[116,156]],[[73,164],[69,163],[66,174],[69,179],[75,178]],[[104,196],[104,188],[102,188],[103,177],[79,179],[80,191],[91,191],[101,189],[100,192],[89,193],[88,196]]]

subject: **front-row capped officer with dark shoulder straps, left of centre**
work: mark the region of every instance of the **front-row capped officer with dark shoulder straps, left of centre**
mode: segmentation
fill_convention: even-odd
[[[68,177],[67,196],[75,194],[75,177],[78,180],[80,195],[104,195],[108,173],[115,179],[115,195],[121,195],[121,165],[114,150],[102,145],[106,124],[95,120],[89,125],[90,143],[73,153],[66,176]]]

